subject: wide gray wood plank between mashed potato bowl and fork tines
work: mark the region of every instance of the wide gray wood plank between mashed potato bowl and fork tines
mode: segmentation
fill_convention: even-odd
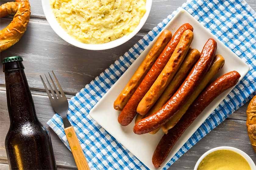
[[[0,27],[8,22],[9,19],[1,19]],[[119,47],[91,51],[65,42],[55,34],[48,23],[30,22],[23,38],[1,53],[1,60],[7,56],[22,56],[30,88],[43,90],[39,75],[54,70],[62,88],[66,92],[76,94],[141,38],[138,34]],[[5,84],[2,71],[0,83]]]

